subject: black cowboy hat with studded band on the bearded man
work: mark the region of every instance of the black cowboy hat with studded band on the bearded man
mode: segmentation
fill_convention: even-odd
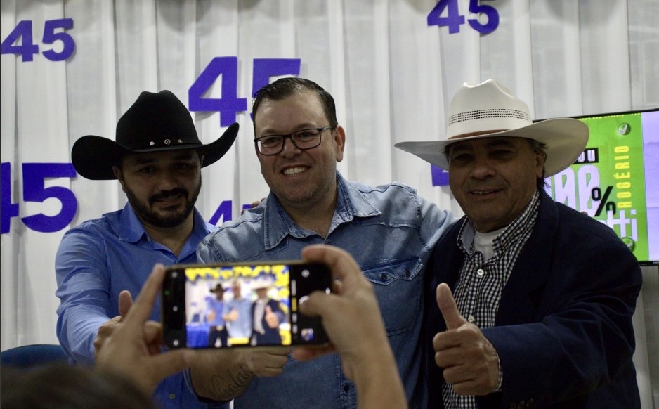
[[[204,155],[204,167],[223,157],[237,133],[238,124],[234,123],[217,141],[204,145],[190,112],[171,91],[144,91],[119,118],[116,142],[101,136],[83,136],[74,143],[71,160],[81,176],[93,180],[114,179],[112,166],[133,153],[198,149]]]

